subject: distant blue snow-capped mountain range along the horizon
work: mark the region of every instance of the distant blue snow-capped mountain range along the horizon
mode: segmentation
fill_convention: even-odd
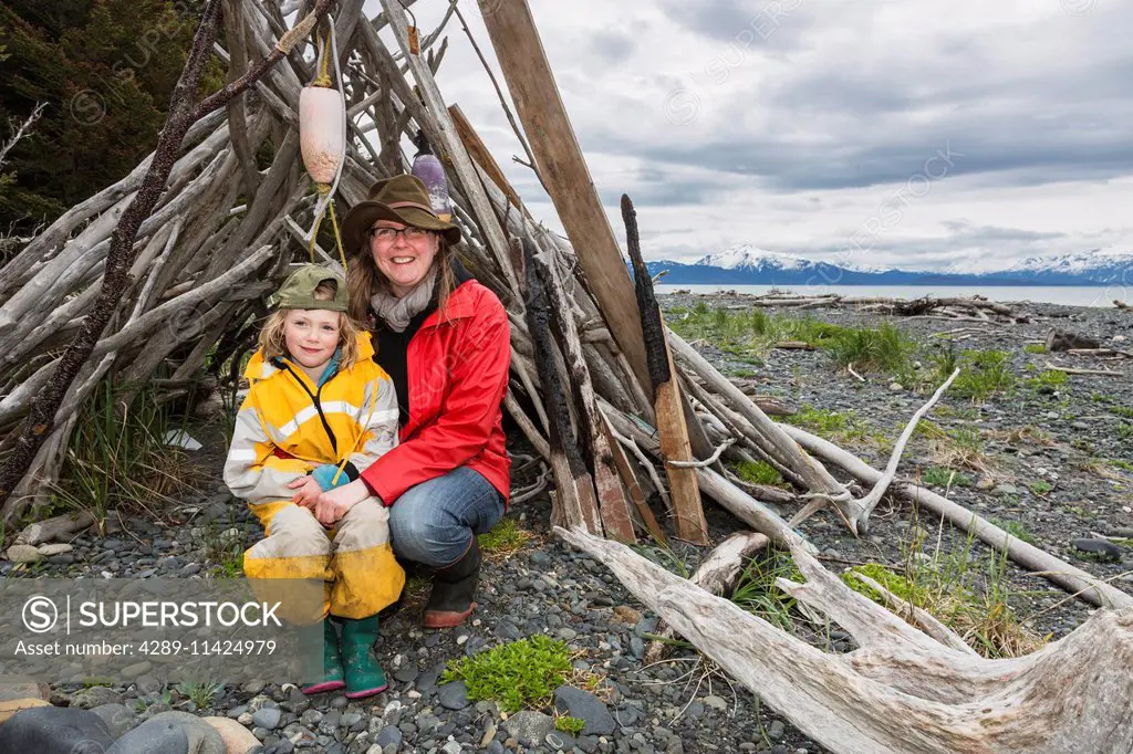
[[[741,245],[692,264],[658,260],[646,265],[671,285],[1133,285],[1133,251],[1094,249],[1083,254],[1029,257],[1003,269],[902,269],[859,263],[832,264]]]

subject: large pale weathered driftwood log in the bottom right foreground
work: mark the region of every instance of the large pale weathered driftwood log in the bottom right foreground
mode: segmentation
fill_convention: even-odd
[[[645,606],[832,752],[1093,754],[1133,748],[1133,609],[1098,610],[1032,654],[986,660],[936,642],[792,547],[807,579],[777,585],[860,649],[827,654],[733,602],[581,531],[555,533],[600,560]]]

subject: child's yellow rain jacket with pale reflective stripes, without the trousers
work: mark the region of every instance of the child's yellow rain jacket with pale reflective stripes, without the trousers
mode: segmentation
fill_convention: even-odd
[[[253,504],[290,500],[288,483],[315,466],[349,460],[360,472],[394,447],[398,400],[373,357],[369,333],[359,333],[358,361],[316,386],[292,361],[265,362],[257,350],[224,463],[232,494]]]

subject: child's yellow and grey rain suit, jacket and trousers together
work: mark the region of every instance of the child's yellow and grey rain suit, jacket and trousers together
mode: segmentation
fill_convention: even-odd
[[[322,464],[342,465],[352,480],[398,444],[393,383],[373,360],[369,333],[358,335],[358,360],[320,385],[290,359],[253,354],[250,388],[237,413],[224,482],[248,502],[266,537],[244,556],[244,572],[262,598],[271,579],[321,579],[322,615],[281,615],[295,623],[374,615],[394,602],[404,572],[390,547],[389,512],[370,497],[327,530],[291,502],[288,483]],[[258,584],[258,585],[257,585]],[[287,588],[280,583],[286,593]],[[278,597],[278,596],[276,596]]]

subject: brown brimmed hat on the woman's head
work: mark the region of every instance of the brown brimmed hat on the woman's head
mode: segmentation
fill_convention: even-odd
[[[342,220],[342,238],[351,254],[367,248],[367,234],[378,220],[437,231],[449,246],[460,242],[460,229],[436,216],[425,185],[408,173],[377,181],[369,188],[367,199],[347,213]]]

